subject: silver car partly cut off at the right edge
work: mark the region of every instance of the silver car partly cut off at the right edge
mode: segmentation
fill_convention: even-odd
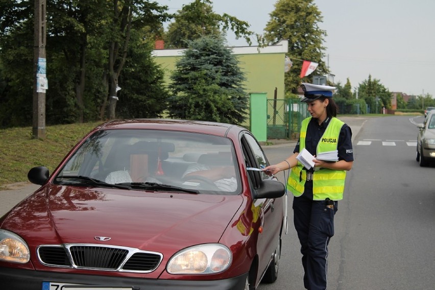
[[[417,124],[417,161],[420,166],[428,166],[435,161],[435,110],[429,111],[423,124]]]

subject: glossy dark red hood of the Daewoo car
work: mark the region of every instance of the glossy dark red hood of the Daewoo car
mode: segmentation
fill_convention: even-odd
[[[242,196],[46,185],[10,211],[2,228],[16,232],[32,248],[91,243],[182,249],[192,243],[217,243],[243,200]]]

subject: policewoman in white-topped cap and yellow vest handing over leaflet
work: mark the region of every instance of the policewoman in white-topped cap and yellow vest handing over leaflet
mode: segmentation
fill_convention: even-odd
[[[293,155],[265,167],[268,175],[289,170],[287,190],[294,195],[294,224],[301,243],[304,286],[310,290],[327,288],[329,239],[334,235],[337,201],[343,199],[346,172],[352,168],[352,131],[336,118],[332,99],[335,87],[303,83],[304,98],[310,117],[301,125]],[[303,149],[313,156],[333,151],[333,161],[313,159],[315,166],[305,168],[296,157]],[[285,176],[285,175],[284,175]]]

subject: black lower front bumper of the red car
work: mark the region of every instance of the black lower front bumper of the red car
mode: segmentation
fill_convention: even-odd
[[[91,284],[110,287],[132,287],[134,290],[225,290],[244,289],[248,273],[224,280],[159,280],[96,275],[64,274],[0,267],[0,285],[2,289],[42,290],[42,282],[60,282],[70,284]]]

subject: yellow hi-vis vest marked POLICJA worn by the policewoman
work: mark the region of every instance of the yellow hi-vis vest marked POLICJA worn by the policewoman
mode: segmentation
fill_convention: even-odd
[[[305,136],[307,133],[308,123],[311,117],[308,117],[302,121],[301,133],[299,137],[299,152],[305,148]],[[317,155],[322,152],[337,150],[340,131],[344,123],[333,117],[329,121],[328,127],[326,127],[325,133],[317,145]],[[298,162],[298,165],[292,168],[290,177],[287,181],[287,188],[293,192],[295,197],[299,197],[304,192],[306,170],[302,170],[302,163]],[[312,197],[313,200],[325,200],[330,198],[331,200],[342,200],[344,185],[346,179],[345,170],[332,170],[328,168],[316,168],[312,175]]]

